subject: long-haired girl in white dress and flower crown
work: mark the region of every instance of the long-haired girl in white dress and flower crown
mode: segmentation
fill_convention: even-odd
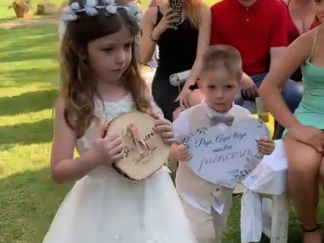
[[[134,13],[111,0],[78,0],[64,9],[51,169],[55,182],[76,183],[44,243],[196,242],[165,168],[133,183],[111,167],[123,148],[120,137],[104,135],[109,121],[151,109],[134,56]],[[164,119],[156,117],[155,129],[166,143],[174,140]]]

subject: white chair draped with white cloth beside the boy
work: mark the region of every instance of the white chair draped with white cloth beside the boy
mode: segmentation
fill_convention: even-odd
[[[241,201],[241,241],[258,242],[264,233],[271,243],[288,242],[289,200],[287,160],[284,144],[276,149],[242,184],[247,187]],[[262,226],[262,227],[261,227]]]

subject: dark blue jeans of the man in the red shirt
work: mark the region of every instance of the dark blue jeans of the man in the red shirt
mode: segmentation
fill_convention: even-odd
[[[251,78],[254,81],[257,88],[260,87],[264,77],[267,75],[266,72],[252,75]],[[299,106],[299,103],[302,99],[301,90],[298,88],[298,85],[295,81],[289,79],[287,83],[281,89],[282,98],[284,98],[286,105],[290,109],[291,112],[295,112],[296,108]],[[242,94],[239,93],[236,96],[235,104],[242,106],[244,103],[244,99],[242,98]],[[278,126],[276,128],[275,139],[280,139],[282,132],[284,132],[284,128],[282,126]]]

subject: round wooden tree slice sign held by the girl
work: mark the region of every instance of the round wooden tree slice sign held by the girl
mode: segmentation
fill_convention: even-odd
[[[112,166],[121,175],[141,181],[164,166],[169,157],[166,145],[154,130],[154,118],[146,113],[133,111],[111,121],[107,135],[117,134],[123,144],[123,158]]]

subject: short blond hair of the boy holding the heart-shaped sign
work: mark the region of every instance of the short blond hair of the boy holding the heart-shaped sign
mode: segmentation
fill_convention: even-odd
[[[209,47],[201,63],[200,73],[223,68],[235,80],[242,78],[242,59],[236,48],[229,45],[216,45]]]

